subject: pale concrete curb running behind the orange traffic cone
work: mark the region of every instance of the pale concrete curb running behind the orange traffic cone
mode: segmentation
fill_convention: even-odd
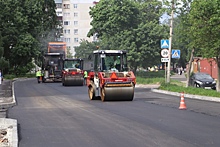
[[[158,90],[158,89],[151,89],[151,91],[157,92],[157,93],[168,94],[168,95],[174,95],[174,96],[180,96],[181,94],[179,92],[171,92],[171,91]],[[220,98],[218,97],[200,96],[200,95],[193,95],[193,94],[184,94],[184,97],[190,98],[190,99],[220,102]]]

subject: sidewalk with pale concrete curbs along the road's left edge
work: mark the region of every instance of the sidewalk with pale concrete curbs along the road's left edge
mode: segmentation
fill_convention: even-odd
[[[16,105],[14,82],[4,80],[0,85],[0,146],[17,147],[17,120],[7,118],[7,110]]]

